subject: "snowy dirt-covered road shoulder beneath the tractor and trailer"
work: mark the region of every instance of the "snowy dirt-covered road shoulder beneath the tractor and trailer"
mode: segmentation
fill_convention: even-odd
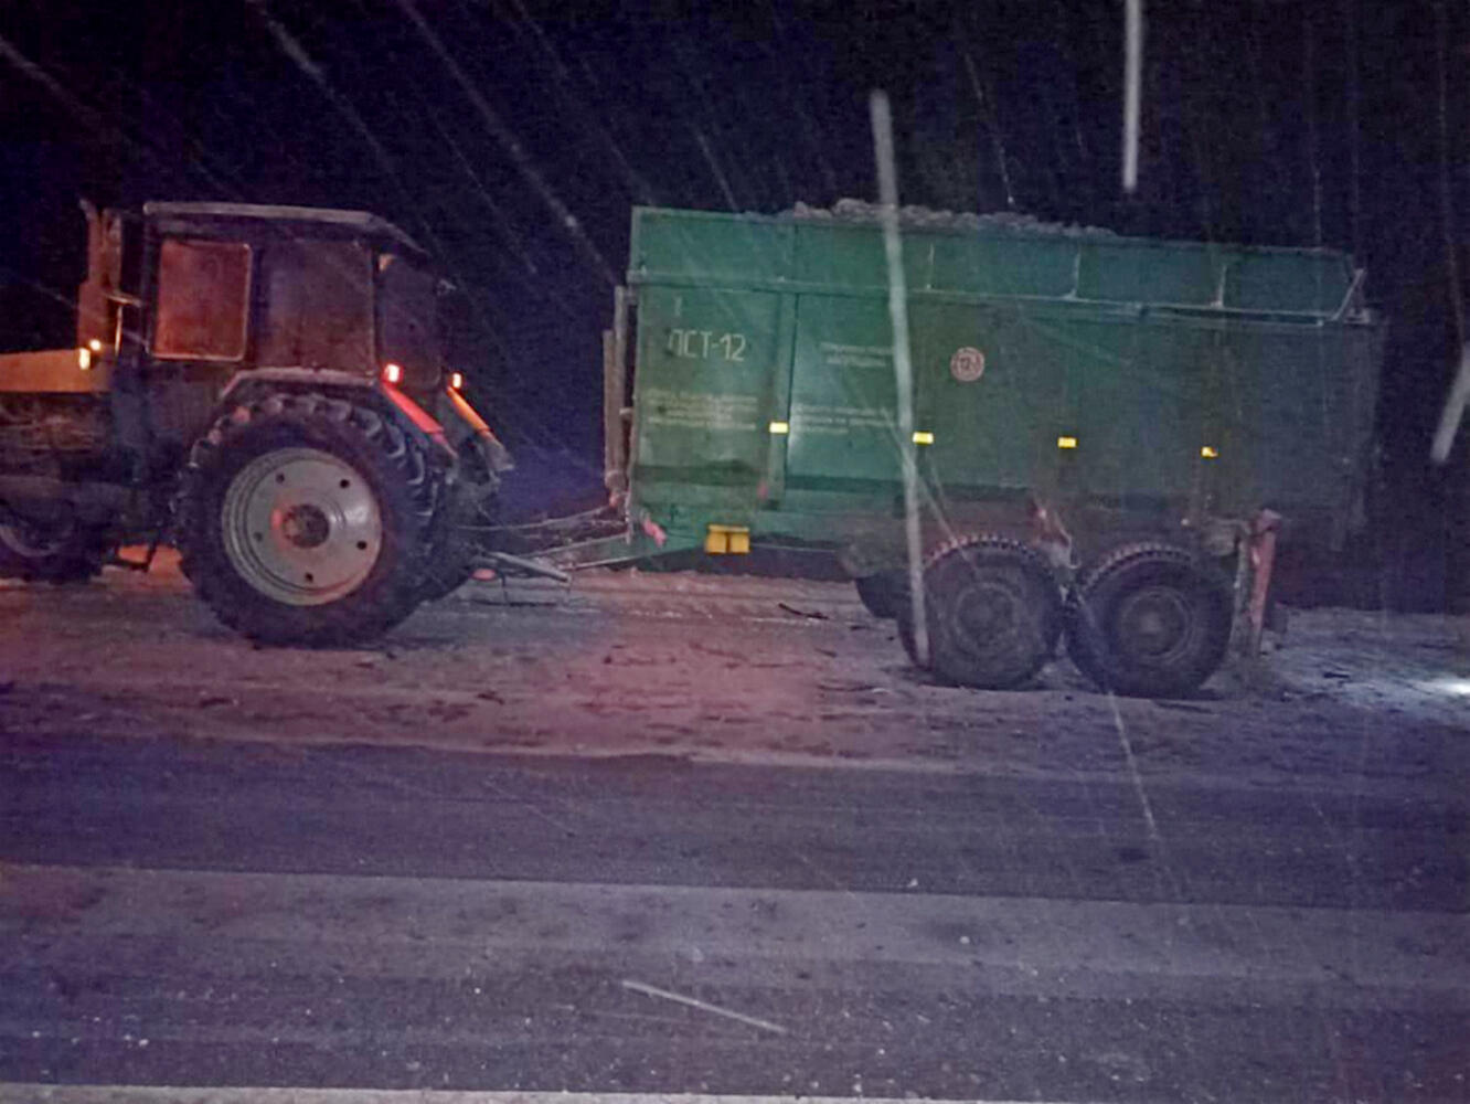
[[[1011,775],[1135,773],[1460,794],[1470,619],[1302,612],[1188,701],[1111,698],[1064,659],[1035,688],[916,672],[847,584],[588,572],[470,584],[372,647],[257,648],[176,563],[79,588],[0,582],[0,732]]]

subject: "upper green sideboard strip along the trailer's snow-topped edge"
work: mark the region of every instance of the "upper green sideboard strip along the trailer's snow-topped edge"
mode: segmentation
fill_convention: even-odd
[[[634,285],[886,290],[882,207],[798,203],[781,215],[635,207]],[[1374,325],[1364,273],[1341,250],[1180,241],[1030,215],[900,209],[910,294],[1289,325]]]

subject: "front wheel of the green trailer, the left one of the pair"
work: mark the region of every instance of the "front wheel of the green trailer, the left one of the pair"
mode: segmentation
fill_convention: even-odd
[[[1061,592],[1051,570],[1025,544],[963,537],[925,563],[925,614],[931,667],[948,682],[1005,689],[1030,681],[1061,635]],[[914,657],[911,616],[900,610],[900,637]]]

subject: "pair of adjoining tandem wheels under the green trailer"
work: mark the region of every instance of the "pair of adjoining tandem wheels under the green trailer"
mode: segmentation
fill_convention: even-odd
[[[869,589],[881,578],[873,576]],[[894,587],[904,592],[894,594]],[[1230,642],[1229,584],[1192,553],[1167,544],[1114,550],[1063,598],[1032,548],[1000,537],[966,537],[929,556],[923,588],[928,666],[964,687],[1029,682],[1066,634],[1072,662],[1102,689],[1176,697],[1210,678]],[[888,589],[900,638],[917,664],[911,603],[894,576]]]

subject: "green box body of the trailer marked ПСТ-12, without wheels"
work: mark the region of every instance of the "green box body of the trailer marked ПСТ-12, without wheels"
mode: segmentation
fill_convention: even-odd
[[[906,228],[931,535],[1066,506],[1083,540],[1358,516],[1382,328],[1332,250]],[[870,223],[637,209],[632,516],[845,544],[901,497]],[[675,540],[675,537],[678,540]]]

